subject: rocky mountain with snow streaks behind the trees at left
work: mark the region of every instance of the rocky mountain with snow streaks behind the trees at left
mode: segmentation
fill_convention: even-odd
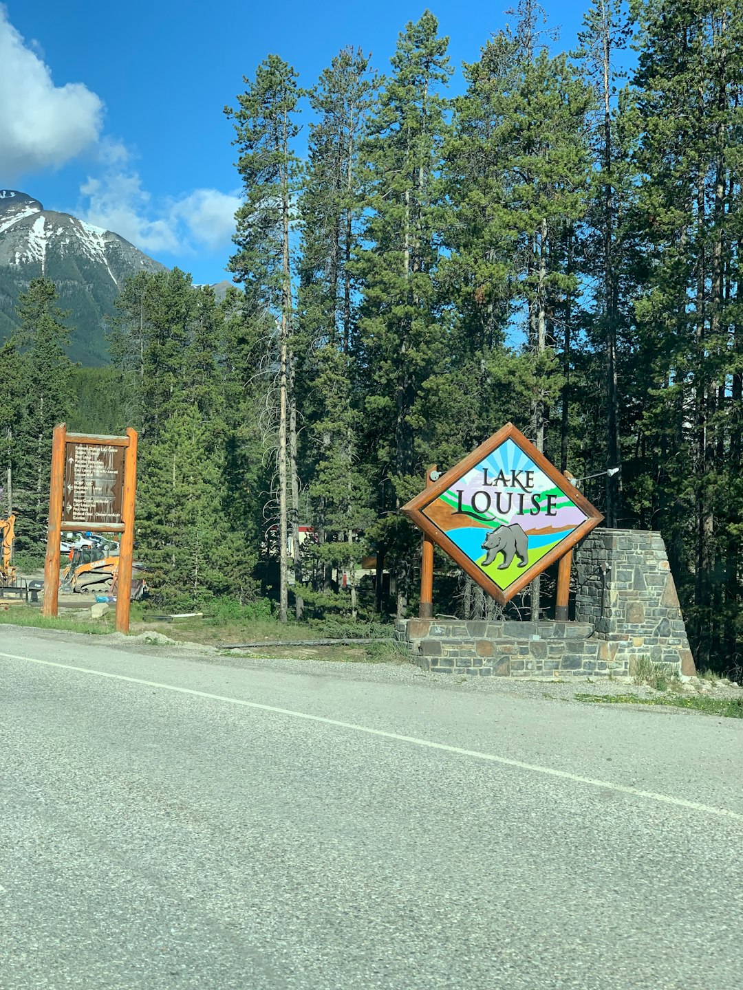
[[[0,340],[18,324],[20,293],[32,278],[46,275],[56,284],[59,307],[70,314],[70,357],[105,363],[105,317],[115,314],[124,279],[162,267],[118,234],[45,210],[26,193],[0,189]]]

